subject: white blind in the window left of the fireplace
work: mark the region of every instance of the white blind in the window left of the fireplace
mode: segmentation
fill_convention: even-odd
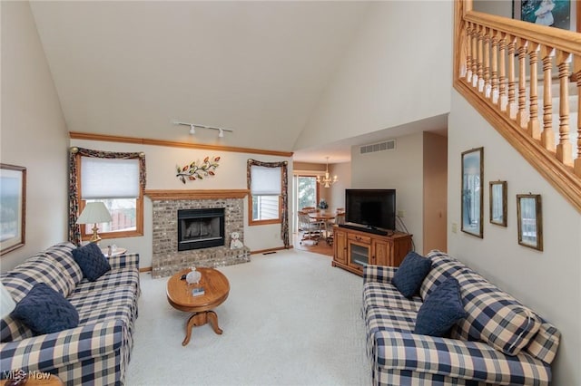
[[[138,198],[139,159],[81,158],[81,198]]]

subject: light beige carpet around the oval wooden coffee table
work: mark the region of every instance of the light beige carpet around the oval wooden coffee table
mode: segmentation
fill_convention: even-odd
[[[253,255],[220,268],[229,298],[216,308],[222,335],[194,327],[165,298],[167,278],[142,274],[127,385],[366,385],[362,278],[304,251]]]

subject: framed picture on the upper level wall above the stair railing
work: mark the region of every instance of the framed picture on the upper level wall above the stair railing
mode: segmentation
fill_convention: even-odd
[[[513,0],[512,18],[575,31],[576,5],[576,0]]]

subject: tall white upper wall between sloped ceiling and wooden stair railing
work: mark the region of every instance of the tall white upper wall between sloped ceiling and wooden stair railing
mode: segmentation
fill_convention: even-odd
[[[448,113],[452,16],[450,1],[370,4],[294,149]]]

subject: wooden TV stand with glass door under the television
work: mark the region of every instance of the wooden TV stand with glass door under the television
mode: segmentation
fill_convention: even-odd
[[[332,265],[357,275],[363,275],[365,265],[399,266],[412,249],[411,236],[403,232],[382,236],[334,226]]]

